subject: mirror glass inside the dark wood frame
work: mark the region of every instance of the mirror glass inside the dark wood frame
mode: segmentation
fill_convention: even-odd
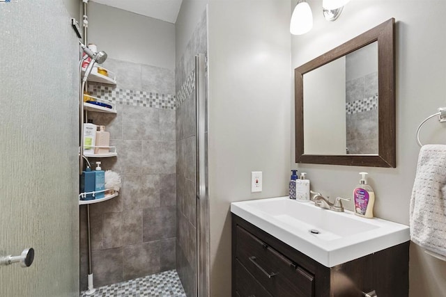
[[[303,74],[304,153],[378,154],[378,42]]]

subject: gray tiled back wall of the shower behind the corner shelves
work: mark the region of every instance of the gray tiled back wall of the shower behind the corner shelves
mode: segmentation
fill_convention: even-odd
[[[91,204],[95,287],[176,268],[176,134],[174,71],[107,59],[116,86],[90,83],[95,97],[116,102],[116,115],[88,113],[105,125],[117,157],[103,170],[122,177],[118,197]],[[94,166],[93,166],[94,167]],[[88,273],[86,207],[80,209],[80,287]]]

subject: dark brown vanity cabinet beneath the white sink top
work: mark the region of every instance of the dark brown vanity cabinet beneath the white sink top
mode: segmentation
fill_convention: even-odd
[[[408,296],[409,242],[331,268],[232,214],[232,296]]]

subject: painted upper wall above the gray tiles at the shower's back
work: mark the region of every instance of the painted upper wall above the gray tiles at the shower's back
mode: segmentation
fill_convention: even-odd
[[[175,69],[175,25],[89,2],[89,43],[111,58]]]

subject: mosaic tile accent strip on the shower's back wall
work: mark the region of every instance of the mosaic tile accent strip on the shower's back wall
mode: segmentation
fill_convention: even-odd
[[[154,109],[175,109],[175,95],[151,93],[141,90],[128,90],[89,83],[87,89],[93,97],[106,99],[115,104],[146,106]]]

